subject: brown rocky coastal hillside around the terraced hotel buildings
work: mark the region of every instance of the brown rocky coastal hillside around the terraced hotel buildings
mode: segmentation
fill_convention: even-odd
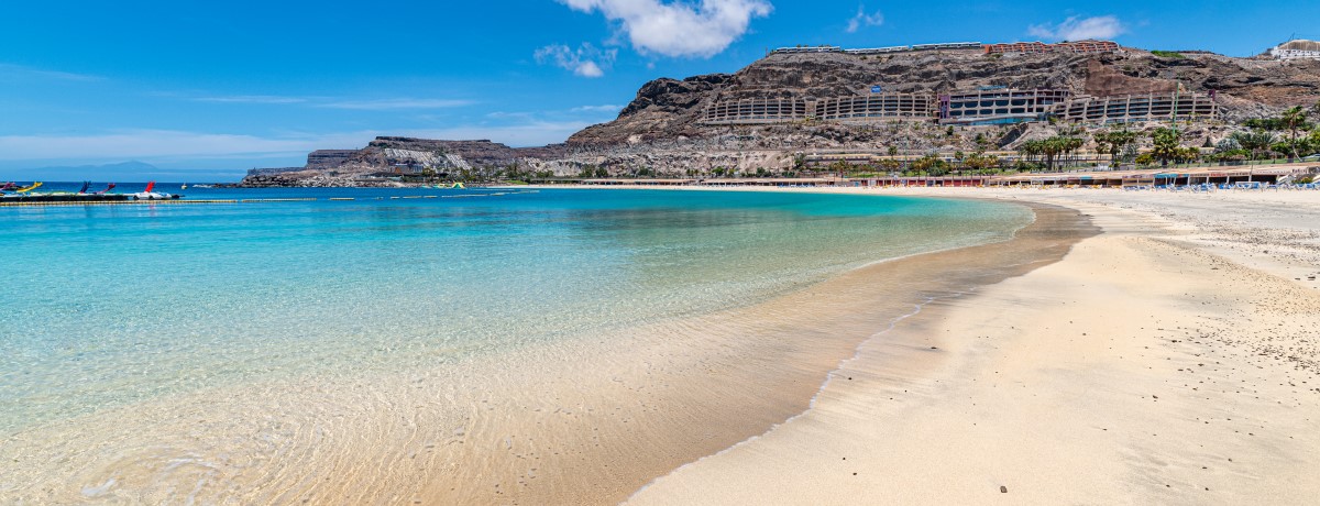
[[[1072,95],[1213,92],[1220,118],[1195,120],[1185,139],[1217,141],[1249,118],[1320,100],[1320,61],[1232,58],[1203,52],[983,54],[924,50],[894,54],[770,54],[734,74],[661,78],[642,86],[619,116],[574,133],[565,144],[511,148],[488,140],[378,137],[362,149],[317,151],[301,169],[255,170],[244,185],[391,185],[408,174],[523,173],[556,176],[700,176],[783,172],[804,153],[970,152],[1012,149],[1068,124],[948,127],[933,120],[846,124],[704,124],[721,100],[821,100],[884,92],[950,94],[977,89],[1052,89]],[[1133,128],[1152,128],[1134,124]]]

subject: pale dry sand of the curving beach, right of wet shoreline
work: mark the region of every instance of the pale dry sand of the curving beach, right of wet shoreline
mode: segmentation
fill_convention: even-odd
[[[630,503],[1320,498],[1320,193],[820,192],[1048,202],[1104,234],[904,320],[809,411]]]

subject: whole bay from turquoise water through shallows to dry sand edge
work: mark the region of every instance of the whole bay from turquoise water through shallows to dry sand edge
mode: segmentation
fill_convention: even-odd
[[[153,254],[62,258],[189,283],[9,292],[137,330],[9,328],[0,501],[618,503],[807,411],[878,332],[1092,233],[1048,206],[585,192],[24,215],[70,235],[25,240],[33,266],[88,225],[150,226]]]

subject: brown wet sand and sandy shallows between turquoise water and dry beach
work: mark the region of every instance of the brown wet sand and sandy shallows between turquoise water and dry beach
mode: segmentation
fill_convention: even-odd
[[[0,445],[0,501],[615,503],[828,402],[833,386],[873,383],[832,374],[863,342],[888,343],[892,367],[937,366],[945,349],[886,330],[1094,234],[1076,211],[1036,214],[1014,240],[879,263],[715,314],[26,429]]]

